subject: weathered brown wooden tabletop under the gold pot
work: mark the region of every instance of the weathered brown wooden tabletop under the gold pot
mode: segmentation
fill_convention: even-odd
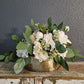
[[[0,62],[0,78],[55,77],[57,79],[84,79],[84,62],[68,62],[68,64],[69,71],[60,67],[58,71],[53,72],[32,72],[24,69],[20,74],[15,74],[13,63],[5,64]]]

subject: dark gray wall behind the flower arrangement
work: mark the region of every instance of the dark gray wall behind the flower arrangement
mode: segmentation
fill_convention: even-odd
[[[0,0],[0,54],[15,49],[11,35],[22,37],[31,18],[47,23],[50,16],[53,22],[70,26],[72,48],[84,55],[84,0]]]

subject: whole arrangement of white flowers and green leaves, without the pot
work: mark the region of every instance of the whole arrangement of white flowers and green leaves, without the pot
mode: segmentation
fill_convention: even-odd
[[[75,56],[83,57],[79,54],[79,50],[70,49],[72,42],[65,34],[69,31],[69,26],[63,28],[63,22],[59,25],[52,24],[51,17],[48,18],[47,24],[34,24],[31,19],[31,25],[25,25],[26,31],[23,33],[24,38],[21,39],[17,35],[12,35],[12,40],[17,44],[16,51],[9,51],[0,55],[0,60],[5,63],[15,62],[14,71],[20,73],[23,68],[30,63],[31,57],[39,60],[39,62],[53,59],[56,63],[69,70],[65,58],[75,61]]]

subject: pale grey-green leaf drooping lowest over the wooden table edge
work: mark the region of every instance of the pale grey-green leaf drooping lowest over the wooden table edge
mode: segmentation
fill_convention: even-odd
[[[16,74],[20,73],[25,66],[25,60],[24,59],[18,59],[14,65],[14,71]]]

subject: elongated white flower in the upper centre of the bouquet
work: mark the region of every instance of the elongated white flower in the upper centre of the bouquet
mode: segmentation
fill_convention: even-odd
[[[44,40],[46,41],[47,44],[51,45],[51,51],[55,48],[55,42],[52,39],[52,34],[44,34]]]

